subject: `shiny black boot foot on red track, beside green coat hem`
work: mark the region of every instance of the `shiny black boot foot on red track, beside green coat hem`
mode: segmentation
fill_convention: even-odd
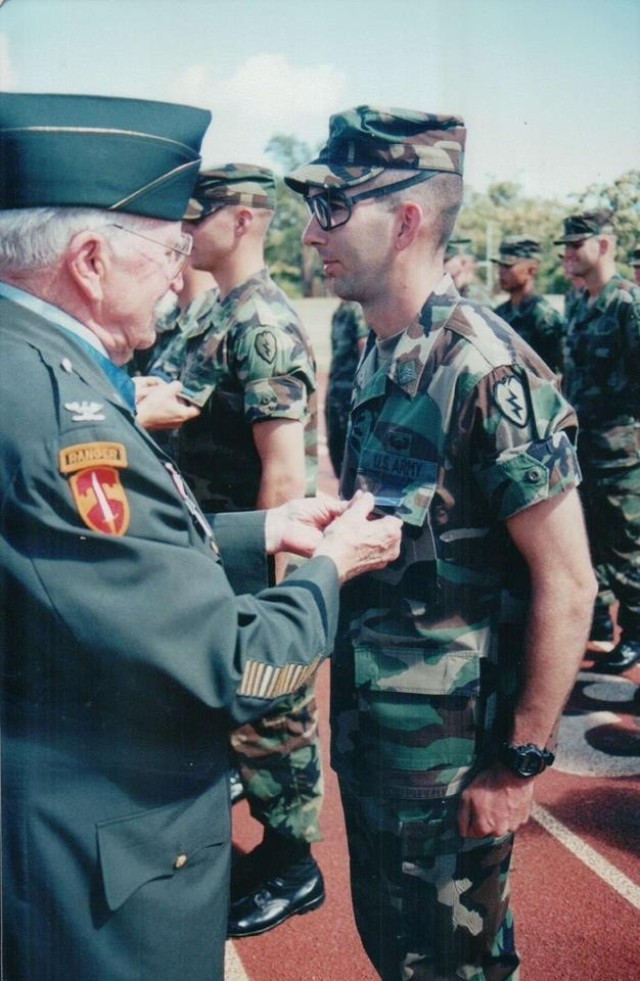
[[[295,913],[310,913],[324,902],[322,872],[313,858],[273,875],[255,891],[231,903],[227,933],[255,937]]]

